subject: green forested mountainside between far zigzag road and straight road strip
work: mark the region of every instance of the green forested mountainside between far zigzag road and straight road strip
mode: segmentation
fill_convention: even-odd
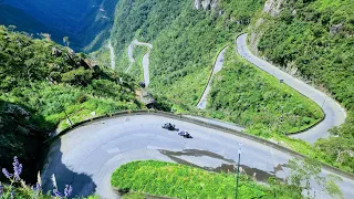
[[[126,62],[119,67],[128,65],[124,50],[134,39],[153,43],[150,91],[190,109],[207,84],[217,53],[262,6],[262,1],[253,0],[241,3],[252,7],[246,11],[244,7],[225,2],[220,7],[232,8],[239,15],[219,15],[219,10],[196,10],[191,1],[122,0],[111,35],[118,63]],[[240,23],[239,18],[248,20]]]

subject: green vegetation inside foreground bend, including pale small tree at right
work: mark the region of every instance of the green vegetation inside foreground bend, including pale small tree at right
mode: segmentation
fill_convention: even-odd
[[[323,191],[341,196],[333,177],[319,177],[321,166],[312,160],[293,159],[289,161],[293,169],[289,184],[270,178],[268,185],[259,185],[247,175],[240,176],[238,196],[247,198],[302,198],[301,192],[310,190],[313,180],[333,189]],[[308,182],[302,187],[301,182]],[[236,176],[216,174],[198,168],[156,160],[133,161],[121,166],[112,175],[111,184],[121,192],[129,192],[126,198],[142,198],[142,193],[176,198],[233,198]],[[309,195],[311,196],[311,193]],[[125,195],[124,195],[125,197]]]

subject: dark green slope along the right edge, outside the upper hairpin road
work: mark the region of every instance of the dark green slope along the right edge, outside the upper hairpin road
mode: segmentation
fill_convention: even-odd
[[[354,172],[354,2],[284,1],[278,17],[264,22],[258,49],[270,61],[295,69],[300,76],[327,90],[347,111],[347,119],[319,140],[325,163]]]

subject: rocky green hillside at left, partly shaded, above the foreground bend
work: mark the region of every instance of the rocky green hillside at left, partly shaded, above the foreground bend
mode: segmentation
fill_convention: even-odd
[[[35,178],[41,142],[92,116],[140,108],[129,76],[100,67],[83,53],[0,27],[0,163],[13,156]],[[32,170],[32,172],[28,172]]]

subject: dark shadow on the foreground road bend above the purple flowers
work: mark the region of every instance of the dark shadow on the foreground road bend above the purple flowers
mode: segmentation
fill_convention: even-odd
[[[63,154],[60,149],[60,139],[52,143],[48,149],[41,175],[44,192],[53,190],[52,175],[54,175],[61,193],[64,192],[65,185],[73,187],[73,197],[87,197],[94,193],[96,185],[93,182],[91,176],[73,171],[73,169],[70,168],[70,159],[65,159],[65,164],[63,164]]]

